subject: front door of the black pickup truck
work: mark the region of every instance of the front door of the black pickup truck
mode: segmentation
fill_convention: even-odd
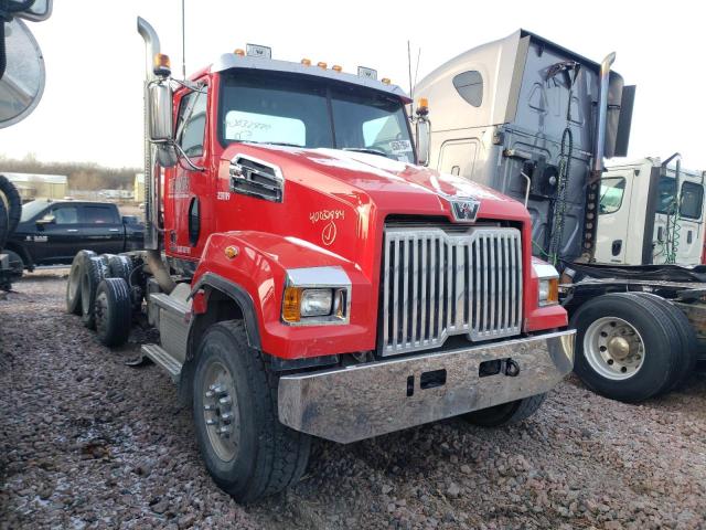
[[[38,265],[71,263],[81,250],[81,214],[77,204],[61,203],[38,220],[32,255]]]

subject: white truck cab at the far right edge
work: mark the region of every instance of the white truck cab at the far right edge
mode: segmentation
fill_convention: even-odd
[[[698,265],[706,171],[644,158],[601,178],[595,259],[620,265]]]

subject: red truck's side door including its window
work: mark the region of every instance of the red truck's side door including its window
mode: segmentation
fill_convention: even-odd
[[[204,153],[207,110],[207,94],[186,93],[179,103],[176,117],[176,141],[195,166],[207,163]],[[205,237],[203,236],[204,210],[210,205],[211,181],[203,171],[189,169],[185,163],[174,168],[174,178],[170,182],[168,194],[171,197],[173,226],[167,229],[167,246],[171,255],[185,259],[199,259]],[[205,209],[204,209],[205,205]]]

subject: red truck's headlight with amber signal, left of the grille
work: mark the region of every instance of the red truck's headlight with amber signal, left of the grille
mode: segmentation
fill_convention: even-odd
[[[292,326],[347,324],[351,283],[340,267],[287,272],[282,320]]]

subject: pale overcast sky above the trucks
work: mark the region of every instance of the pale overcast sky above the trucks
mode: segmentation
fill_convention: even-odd
[[[408,89],[407,40],[421,47],[419,78],[468,49],[518,28],[613,68],[638,85],[630,157],[684,156],[706,169],[704,11],[696,1],[356,2],[186,0],[186,71],[245,43],[276,59],[310,57],[376,67]],[[152,23],[181,74],[181,0],[55,0],[29,22],[46,62],[44,98],[24,121],[0,129],[0,155],[141,165],[145,47],[136,17]]]

